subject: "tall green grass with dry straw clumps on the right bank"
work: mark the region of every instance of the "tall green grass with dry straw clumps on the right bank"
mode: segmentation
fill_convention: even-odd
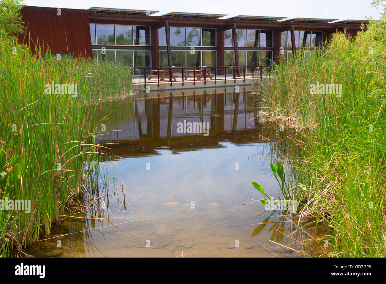
[[[381,59],[369,58],[364,34],[336,34],[320,51],[282,61],[263,91],[266,115],[303,135],[288,132],[293,148],[303,148],[292,161],[294,185],[306,185],[294,186],[305,204],[300,217],[333,229],[339,257],[386,256],[385,82],[369,68]],[[313,94],[317,82],[342,84],[342,96]]]

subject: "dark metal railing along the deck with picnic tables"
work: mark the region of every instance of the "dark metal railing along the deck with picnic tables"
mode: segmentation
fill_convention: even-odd
[[[173,82],[204,82],[218,80],[234,80],[259,77],[262,80],[263,74],[270,75],[271,66],[215,66],[215,67],[161,67],[161,68],[134,68],[132,83],[166,83],[170,86]]]

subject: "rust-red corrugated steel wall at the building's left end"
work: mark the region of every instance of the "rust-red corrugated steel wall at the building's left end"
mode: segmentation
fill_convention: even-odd
[[[35,46],[45,53],[71,53],[76,57],[92,58],[88,11],[80,9],[24,6],[20,10],[25,34],[18,34],[19,42]]]

